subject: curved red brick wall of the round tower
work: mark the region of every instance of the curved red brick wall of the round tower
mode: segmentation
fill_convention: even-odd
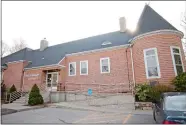
[[[135,41],[133,46],[133,58],[135,68],[136,83],[148,82],[145,72],[143,50],[148,48],[157,48],[161,78],[157,79],[162,84],[168,84],[175,77],[172,63],[170,46],[178,46],[182,52],[182,60],[184,60],[183,47],[178,36],[173,34],[156,34],[146,36]]]

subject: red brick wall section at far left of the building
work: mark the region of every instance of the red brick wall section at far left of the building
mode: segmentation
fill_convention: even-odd
[[[4,84],[7,88],[10,88],[13,84],[17,90],[20,90],[23,75],[24,62],[12,62],[8,63],[8,68],[4,71]]]

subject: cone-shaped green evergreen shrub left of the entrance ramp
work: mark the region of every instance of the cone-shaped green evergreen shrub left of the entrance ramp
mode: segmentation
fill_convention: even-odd
[[[38,105],[38,104],[43,104],[43,103],[44,103],[43,97],[40,94],[39,88],[36,84],[34,84],[29,94],[28,104]]]

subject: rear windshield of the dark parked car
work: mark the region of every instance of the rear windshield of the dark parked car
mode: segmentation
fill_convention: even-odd
[[[165,109],[172,111],[186,111],[186,94],[165,97]]]

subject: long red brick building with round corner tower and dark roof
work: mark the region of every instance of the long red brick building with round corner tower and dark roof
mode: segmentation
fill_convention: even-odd
[[[45,89],[131,92],[136,84],[168,84],[184,72],[181,39],[183,33],[145,5],[137,30],[126,29],[120,18],[120,30],[85,39],[48,46],[25,48],[2,58],[6,64],[3,80],[18,90],[29,91],[33,84]],[[101,88],[100,88],[101,86]]]

